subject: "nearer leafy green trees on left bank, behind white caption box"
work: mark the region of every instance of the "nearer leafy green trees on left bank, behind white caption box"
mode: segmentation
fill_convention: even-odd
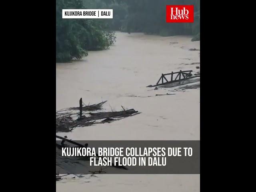
[[[62,9],[84,9],[82,0],[56,0],[56,62],[69,62],[114,44],[114,31],[96,19],[62,19]]]

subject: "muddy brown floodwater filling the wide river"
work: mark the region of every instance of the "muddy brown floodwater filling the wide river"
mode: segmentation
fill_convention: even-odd
[[[116,33],[109,50],[90,51],[72,63],[56,64],[56,110],[108,100],[104,110],[134,108],[141,114],[110,124],[76,128],[72,140],[200,140],[200,89],[148,88],[162,73],[200,66],[200,41]],[[189,49],[196,49],[191,51]],[[156,94],[174,94],[156,96]],[[97,175],[56,182],[57,191],[200,191],[200,175]]]

